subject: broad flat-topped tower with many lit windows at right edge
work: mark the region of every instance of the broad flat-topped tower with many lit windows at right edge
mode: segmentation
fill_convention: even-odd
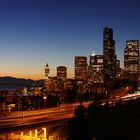
[[[139,40],[126,41],[124,49],[125,78],[138,82],[139,78]]]

